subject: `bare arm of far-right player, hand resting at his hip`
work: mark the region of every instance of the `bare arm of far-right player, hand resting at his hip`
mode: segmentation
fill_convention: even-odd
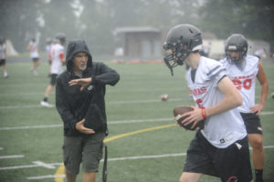
[[[256,115],[259,115],[259,113],[263,110],[266,104],[266,100],[269,94],[269,80],[261,63],[258,63],[257,78],[261,86],[260,99],[257,105],[250,107],[250,110],[252,113],[256,113]]]

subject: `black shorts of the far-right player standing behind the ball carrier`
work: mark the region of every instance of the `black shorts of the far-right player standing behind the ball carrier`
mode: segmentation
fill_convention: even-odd
[[[248,134],[260,134],[262,135],[262,127],[259,117],[254,113],[241,113]]]

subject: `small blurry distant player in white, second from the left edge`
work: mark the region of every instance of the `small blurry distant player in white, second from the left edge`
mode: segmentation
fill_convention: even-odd
[[[38,54],[38,45],[35,38],[32,38],[26,49],[30,52],[30,57],[32,58],[33,66],[30,68],[33,75],[37,76],[37,66],[40,65],[39,54]]]

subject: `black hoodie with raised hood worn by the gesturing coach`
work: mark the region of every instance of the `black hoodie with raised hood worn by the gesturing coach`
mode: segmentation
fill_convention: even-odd
[[[72,70],[73,56],[79,52],[84,52],[89,57],[87,68],[83,72],[82,78],[92,78],[91,85],[87,86],[83,91],[80,91],[79,85],[68,86],[70,80],[79,78]],[[64,123],[64,135],[84,135],[76,130],[75,126],[86,117],[89,108],[92,110],[92,118],[96,122],[102,122],[104,124],[102,130],[107,133],[104,99],[106,85],[114,86],[120,79],[119,74],[103,63],[92,63],[89,48],[83,40],[70,41],[68,43],[66,65],[67,70],[58,76],[56,85],[56,106]]]

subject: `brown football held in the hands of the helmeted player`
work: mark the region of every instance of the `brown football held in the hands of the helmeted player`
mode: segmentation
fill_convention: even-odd
[[[191,106],[175,106],[174,107],[174,117],[175,117],[175,120],[177,121],[177,123],[180,126],[183,126],[186,130],[192,130],[192,131],[194,131],[197,128],[203,129],[204,126],[205,126],[204,120],[200,121],[194,128],[191,128],[192,124],[190,124],[188,126],[184,126],[182,124],[182,121],[187,117],[187,116],[182,117],[182,115],[184,113],[187,113],[187,112],[193,111],[193,110],[194,109]]]

